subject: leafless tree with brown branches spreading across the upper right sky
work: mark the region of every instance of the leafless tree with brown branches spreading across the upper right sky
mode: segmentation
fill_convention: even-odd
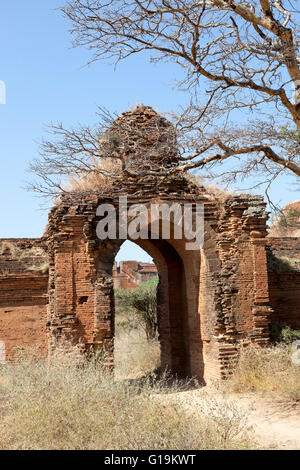
[[[297,0],[71,0],[61,10],[90,61],[147,51],[183,68],[178,86],[190,105],[173,116],[179,150],[171,172],[205,167],[230,181],[254,173],[267,187],[283,172],[300,176]]]

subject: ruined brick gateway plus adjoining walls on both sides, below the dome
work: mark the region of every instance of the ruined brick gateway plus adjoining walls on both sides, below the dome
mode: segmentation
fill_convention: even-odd
[[[143,123],[153,113],[140,107],[125,118]],[[101,197],[61,198],[41,239],[0,241],[0,360],[13,359],[20,346],[46,354],[61,342],[81,341],[86,351],[105,346],[113,365],[112,274],[124,240],[98,239],[96,209],[101,203],[118,209],[122,194],[128,204],[205,207],[199,251],[186,250],[186,240],[172,235],[133,240],[158,269],[162,367],[208,382],[225,376],[241,347],[266,345],[272,320],[300,327],[300,239],[266,238],[262,197],[217,197],[185,175],[160,185],[148,176],[142,189],[121,178]]]

